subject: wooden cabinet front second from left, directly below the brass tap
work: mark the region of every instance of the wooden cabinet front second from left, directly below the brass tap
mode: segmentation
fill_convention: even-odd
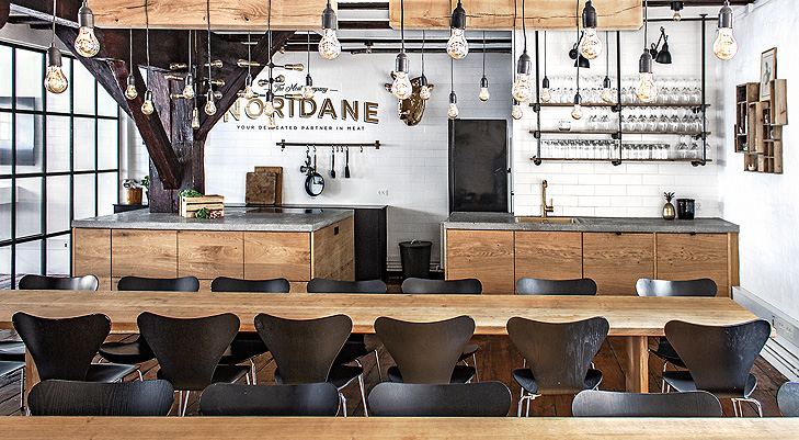
[[[582,233],[516,232],[515,277],[573,280],[583,277]]]

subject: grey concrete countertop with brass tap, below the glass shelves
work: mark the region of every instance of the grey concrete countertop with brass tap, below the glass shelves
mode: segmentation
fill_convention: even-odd
[[[453,213],[442,223],[445,229],[563,230],[580,233],[673,233],[728,234],[739,226],[721,218],[665,221],[663,218],[574,217],[574,223],[522,223],[513,214]]]

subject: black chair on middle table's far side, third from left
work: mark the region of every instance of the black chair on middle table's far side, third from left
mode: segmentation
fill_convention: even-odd
[[[218,277],[210,282],[212,292],[252,292],[252,293],[288,293],[288,280],[278,278],[274,280],[240,280]],[[222,365],[236,365],[242,362],[250,363],[250,383],[258,383],[255,379],[254,359],[269,351],[258,331],[239,331],[225,350]]]

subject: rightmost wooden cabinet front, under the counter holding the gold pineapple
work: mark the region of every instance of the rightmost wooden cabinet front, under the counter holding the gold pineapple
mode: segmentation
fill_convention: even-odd
[[[719,286],[720,296],[730,296],[737,283],[738,237],[728,234],[655,234],[658,278],[694,280],[709,278]],[[734,238],[735,255],[730,245]],[[734,261],[734,269],[731,262]],[[735,280],[732,280],[734,273]]]

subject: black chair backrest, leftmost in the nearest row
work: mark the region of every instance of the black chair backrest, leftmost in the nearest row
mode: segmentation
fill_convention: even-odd
[[[34,416],[165,416],[174,402],[168,381],[44,381],[27,396]]]

